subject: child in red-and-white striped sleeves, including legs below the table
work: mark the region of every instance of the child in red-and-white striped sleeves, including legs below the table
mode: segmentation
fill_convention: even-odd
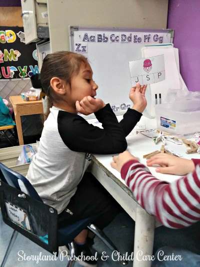
[[[156,179],[128,151],[114,156],[111,162],[111,166],[120,172],[137,202],[148,213],[166,227],[187,227],[178,230],[158,227],[158,249],[156,248],[155,260],[151,266],[199,266],[200,159],[188,160],[157,154],[146,163],[147,166],[160,165],[156,167],[156,172],[185,175],[172,183]],[[162,229],[159,231],[159,228]],[[181,261],[163,260],[164,256],[166,258],[172,253],[181,255]]]

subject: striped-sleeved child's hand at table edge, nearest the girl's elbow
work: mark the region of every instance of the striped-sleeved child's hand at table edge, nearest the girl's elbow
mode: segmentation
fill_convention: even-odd
[[[126,150],[123,153],[118,154],[118,156],[113,156],[110,165],[112,168],[120,172],[122,166],[129,160],[138,160],[138,159],[135,158],[132,154],[130,154],[130,152]]]

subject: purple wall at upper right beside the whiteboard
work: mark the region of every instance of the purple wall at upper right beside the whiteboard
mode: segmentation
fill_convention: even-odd
[[[167,28],[174,30],[180,73],[190,91],[200,91],[200,1],[169,0]]]

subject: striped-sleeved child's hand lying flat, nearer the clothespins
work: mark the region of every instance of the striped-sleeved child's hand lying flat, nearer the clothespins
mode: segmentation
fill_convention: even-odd
[[[160,165],[155,169],[156,172],[176,175],[184,175],[195,169],[192,160],[161,153],[151,157],[146,163],[147,166]]]

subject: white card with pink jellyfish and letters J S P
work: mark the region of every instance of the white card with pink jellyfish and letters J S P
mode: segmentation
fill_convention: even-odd
[[[165,80],[164,55],[129,62],[132,87]]]

